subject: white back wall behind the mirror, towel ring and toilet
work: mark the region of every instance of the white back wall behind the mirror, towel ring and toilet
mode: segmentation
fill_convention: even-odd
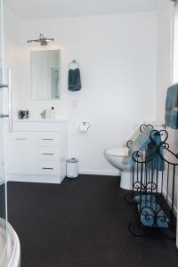
[[[27,44],[39,33],[55,42],[41,48]],[[30,51],[61,49],[61,100],[32,101]],[[68,65],[80,64],[83,88],[67,89]],[[157,14],[130,13],[59,20],[27,20],[20,23],[19,86],[17,109],[29,109],[39,117],[43,109],[56,109],[57,117],[69,117],[69,157],[79,159],[85,174],[117,174],[103,157],[103,150],[120,146],[134,132],[134,125],[155,120],[157,62]],[[78,126],[89,121],[88,134]]]

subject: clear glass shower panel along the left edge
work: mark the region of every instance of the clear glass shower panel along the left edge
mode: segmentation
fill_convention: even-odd
[[[6,181],[4,163],[4,53],[3,53],[3,0],[0,0],[0,267],[7,263],[7,231],[6,231]]]

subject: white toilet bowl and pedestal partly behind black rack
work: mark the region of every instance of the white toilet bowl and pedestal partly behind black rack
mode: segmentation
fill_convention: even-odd
[[[104,151],[104,156],[111,166],[120,171],[120,187],[125,190],[132,189],[130,174],[130,158],[128,156],[128,148],[113,148]]]

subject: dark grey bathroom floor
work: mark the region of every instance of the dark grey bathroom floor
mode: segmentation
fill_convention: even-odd
[[[80,175],[61,185],[8,183],[9,221],[21,244],[21,267],[177,267],[174,241],[134,238],[134,220],[116,178]]]

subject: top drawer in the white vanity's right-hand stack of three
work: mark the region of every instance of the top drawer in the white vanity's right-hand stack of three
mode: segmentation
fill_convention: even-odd
[[[40,147],[55,147],[60,144],[58,133],[41,133],[36,137],[36,145]]]

